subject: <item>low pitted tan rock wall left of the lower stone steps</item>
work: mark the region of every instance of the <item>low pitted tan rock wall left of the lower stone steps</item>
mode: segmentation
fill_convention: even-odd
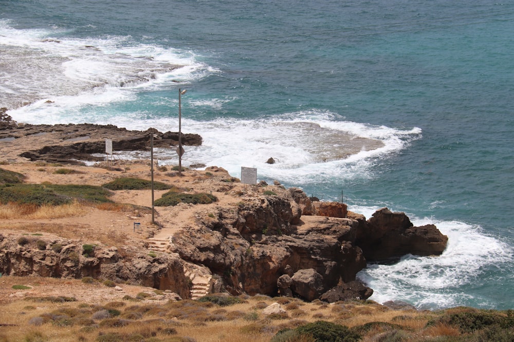
[[[0,273],[54,278],[83,278],[130,281],[142,286],[171,290],[189,298],[184,261],[171,254],[151,257],[137,249],[127,249],[123,255],[116,247],[96,246],[93,255],[85,255],[83,242],[70,239],[44,241],[47,246],[30,241],[20,245],[22,235],[3,235],[0,243]],[[51,246],[59,244],[60,249]]]

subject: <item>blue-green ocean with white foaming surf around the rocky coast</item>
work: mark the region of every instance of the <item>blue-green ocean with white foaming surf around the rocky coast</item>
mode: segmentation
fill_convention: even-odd
[[[177,131],[187,89],[182,132],[204,143],[182,165],[256,168],[449,236],[361,271],[370,299],[512,309],[513,32],[510,0],[0,0],[0,107]]]

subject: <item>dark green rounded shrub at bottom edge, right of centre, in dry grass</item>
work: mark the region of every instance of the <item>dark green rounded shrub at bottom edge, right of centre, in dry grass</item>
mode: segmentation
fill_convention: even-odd
[[[313,323],[295,328],[300,335],[310,335],[316,342],[353,342],[361,337],[358,333],[352,332],[348,327],[318,320]]]

